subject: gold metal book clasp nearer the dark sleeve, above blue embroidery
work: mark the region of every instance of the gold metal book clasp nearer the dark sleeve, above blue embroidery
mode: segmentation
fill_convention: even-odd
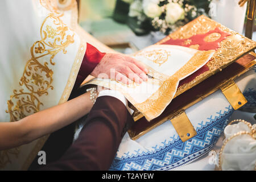
[[[196,130],[189,121],[185,111],[178,113],[174,118],[170,119],[170,121],[172,122],[172,125],[174,126],[182,142],[196,136]]]

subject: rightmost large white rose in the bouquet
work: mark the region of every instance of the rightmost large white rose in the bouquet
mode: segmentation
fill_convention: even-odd
[[[178,3],[168,3],[166,5],[166,22],[174,24],[179,19],[185,18],[185,11]]]

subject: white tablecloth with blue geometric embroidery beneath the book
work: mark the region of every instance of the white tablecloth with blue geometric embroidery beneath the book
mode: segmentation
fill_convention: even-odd
[[[248,101],[246,105],[256,106],[256,68],[235,81]],[[131,140],[126,134],[110,170],[214,169],[214,165],[208,164],[208,152],[214,146],[220,148],[222,131],[231,121],[234,109],[218,90],[185,112],[197,131],[195,137],[182,142],[170,121],[137,140]],[[247,119],[243,118],[246,115],[253,121],[251,113],[236,113],[236,119]]]

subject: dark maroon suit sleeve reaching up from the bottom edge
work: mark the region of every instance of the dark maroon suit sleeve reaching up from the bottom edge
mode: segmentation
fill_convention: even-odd
[[[108,170],[123,134],[133,122],[117,98],[99,97],[76,142],[59,160],[41,170]]]

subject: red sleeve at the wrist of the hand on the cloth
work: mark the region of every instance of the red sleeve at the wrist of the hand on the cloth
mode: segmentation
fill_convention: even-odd
[[[100,52],[97,48],[87,43],[84,59],[82,60],[73,89],[79,88],[82,81],[84,81],[85,78],[92,73],[93,69],[98,65],[98,63],[100,63],[105,54],[105,52]]]

